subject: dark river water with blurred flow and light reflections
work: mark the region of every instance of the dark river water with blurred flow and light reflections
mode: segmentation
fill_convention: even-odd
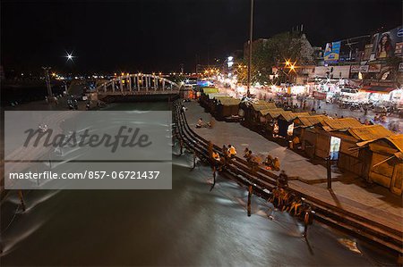
[[[167,110],[167,103],[113,104]],[[173,149],[172,190],[32,190],[27,211],[2,203],[1,266],[378,266],[388,254],[314,222],[308,238],[287,213]],[[10,222],[11,221],[11,222]]]

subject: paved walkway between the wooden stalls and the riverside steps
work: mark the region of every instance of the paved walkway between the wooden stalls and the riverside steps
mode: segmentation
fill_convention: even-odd
[[[281,169],[286,170],[289,176],[299,176],[302,179],[324,179],[326,180],[326,168],[321,164],[311,163],[300,154],[277,143],[270,142],[256,132],[244,128],[237,122],[214,121],[213,129],[196,129],[195,124],[199,118],[203,121],[210,121],[210,113],[204,113],[203,108],[195,103],[184,104],[188,110],[186,118],[189,126],[194,129],[202,138],[210,140],[217,146],[234,145],[238,154],[243,154],[245,147],[252,149],[253,154],[267,155],[268,153],[279,157]],[[337,173],[336,173],[337,172]],[[382,188],[375,184],[367,184],[363,179],[355,177],[350,173],[340,171],[333,172],[332,178],[338,181],[332,182],[331,194],[326,188],[326,182],[308,185],[300,180],[292,180],[290,184],[296,187],[311,187],[315,194],[325,194],[326,197],[334,199],[339,206],[343,203],[355,204],[357,211],[361,210],[365,215],[377,216],[379,220],[389,222],[394,228],[403,230],[403,204],[402,198],[391,194],[388,188]],[[390,220],[388,219],[390,215]],[[389,221],[388,221],[389,220]]]

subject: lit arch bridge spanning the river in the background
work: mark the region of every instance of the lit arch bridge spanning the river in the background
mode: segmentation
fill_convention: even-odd
[[[110,79],[96,88],[99,96],[176,95],[181,86],[154,74],[128,74]]]

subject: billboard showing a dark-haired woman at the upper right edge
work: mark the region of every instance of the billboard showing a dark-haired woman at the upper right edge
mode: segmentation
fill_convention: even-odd
[[[402,55],[403,29],[401,26],[373,35],[373,54],[375,59],[386,59]]]

